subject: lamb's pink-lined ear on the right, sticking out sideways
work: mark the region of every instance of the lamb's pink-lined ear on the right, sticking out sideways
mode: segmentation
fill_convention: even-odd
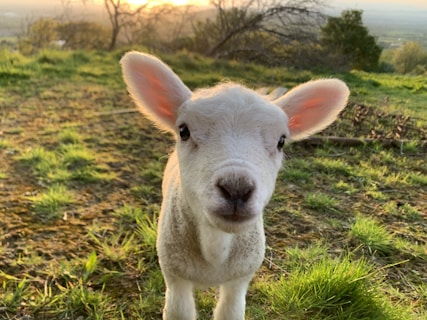
[[[337,79],[306,82],[275,100],[289,117],[291,141],[304,139],[335,121],[346,106],[350,91]]]

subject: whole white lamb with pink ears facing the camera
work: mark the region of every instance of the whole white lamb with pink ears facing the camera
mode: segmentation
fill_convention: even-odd
[[[232,82],[191,92],[148,54],[128,52],[121,65],[140,111],[176,138],[157,238],[163,319],[196,319],[193,289],[219,286],[214,319],[242,320],[249,282],[264,259],[263,209],[282,148],[331,124],[349,89],[337,79],[316,80],[271,101]]]

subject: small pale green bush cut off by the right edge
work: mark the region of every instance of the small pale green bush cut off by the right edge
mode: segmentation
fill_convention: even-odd
[[[393,64],[400,73],[414,72],[416,69],[424,69],[427,64],[427,54],[420,44],[409,41],[396,50],[393,56]]]

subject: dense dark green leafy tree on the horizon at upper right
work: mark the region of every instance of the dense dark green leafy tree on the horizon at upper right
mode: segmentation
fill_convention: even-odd
[[[378,67],[382,48],[363,25],[362,14],[344,10],[341,17],[329,17],[321,28],[321,43],[351,68],[372,70]]]

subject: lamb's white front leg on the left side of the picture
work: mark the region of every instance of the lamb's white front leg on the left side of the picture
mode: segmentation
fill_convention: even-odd
[[[175,276],[165,275],[166,305],[163,320],[195,320],[196,306],[193,283]]]

